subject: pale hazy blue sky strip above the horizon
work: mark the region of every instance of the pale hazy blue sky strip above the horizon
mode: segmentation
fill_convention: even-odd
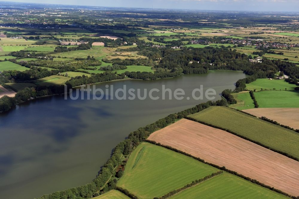
[[[299,0],[13,0],[16,2],[193,10],[297,11]]]

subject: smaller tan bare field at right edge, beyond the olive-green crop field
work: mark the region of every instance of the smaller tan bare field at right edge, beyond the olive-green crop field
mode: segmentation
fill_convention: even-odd
[[[267,117],[280,124],[299,129],[299,108],[253,108],[243,110],[257,117]]]

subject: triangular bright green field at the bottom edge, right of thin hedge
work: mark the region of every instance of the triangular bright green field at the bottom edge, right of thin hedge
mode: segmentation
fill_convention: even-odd
[[[251,183],[233,174],[222,173],[196,186],[185,189],[171,199],[197,198],[288,198],[282,194]]]

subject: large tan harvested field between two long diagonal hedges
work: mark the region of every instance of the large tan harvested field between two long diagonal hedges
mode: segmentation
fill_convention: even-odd
[[[299,162],[220,129],[182,119],[148,138],[299,195]]]

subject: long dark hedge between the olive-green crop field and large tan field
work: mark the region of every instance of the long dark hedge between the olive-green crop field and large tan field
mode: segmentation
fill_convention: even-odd
[[[194,121],[194,122],[198,122],[198,123],[201,123],[201,124],[204,124],[204,125],[213,127],[213,128],[218,128],[218,129],[220,129],[220,130],[223,130],[223,131],[226,131],[226,132],[228,132],[228,133],[234,134],[234,135],[236,135],[236,136],[238,136],[238,137],[243,138],[244,140],[248,140],[248,141],[250,141],[250,142],[252,142],[252,143],[255,143],[255,144],[257,144],[257,145],[260,145],[260,146],[262,146],[262,147],[264,147],[264,148],[266,148],[266,149],[270,149],[271,151],[274,151],[274,152],[276,152],[276,153],[282,154],[282,155],[284,155],[284,156],[286,156],[286,157],[289,157],[289,158],[291,158],[291,159],[293,159],[293,160],[297,160],[297,161],[299,161],[299,159],[298,159],[297,157],[294,157],[294,156],[292,156],[292,155],[290,155],[290,154],[288,154],[288,153],[286,153],[286,152],[279,151],[279,150],[277,150],[277,149],[273,149],[273,148],[271,148],[270,146],[267,146],[267,145],[265,145],[265,144],[263,144],[263,143],[260,143],[259,141],[255,141],[255,140],[252,140],[252,139],[250,139],[250,138],[248,138],[248,137],[245,137],[245,136],[243,136],[243,135],[240,135],[240,134],[238,134],[238,133],[235,132],[235,131],[231,131],[231,130],[229,130],[229,129],[222,128],[222,127],[217,126],[217,125],[213,125],[213,124],[210,124],[210,123],[206,123],[206,122],[204,122],[204,121],[201,121],[201,120],[198,120],[198,119],[195,119],[195,118],[192,118],[192,117],[188,117],[188,116],[186,116],[185,118],[188,119],[188,120],[192,120],[192,121]]]

